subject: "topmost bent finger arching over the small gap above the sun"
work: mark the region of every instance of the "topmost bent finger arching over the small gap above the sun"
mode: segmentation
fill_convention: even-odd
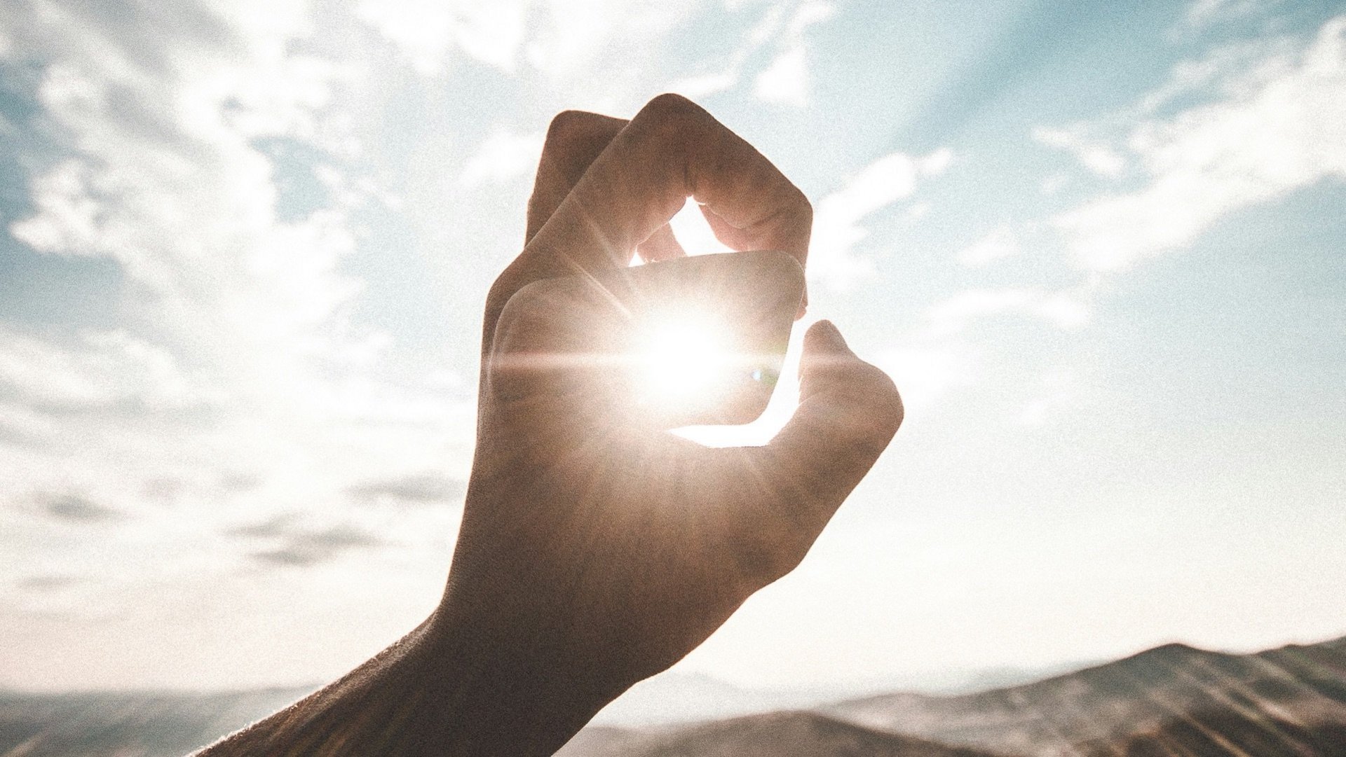
[[[752,145],[678,95],[660,95],[612,137],[524,255],[551,276],[625,265],[686,200],[715,214],[736,249],[805,262],[813,210]]]

